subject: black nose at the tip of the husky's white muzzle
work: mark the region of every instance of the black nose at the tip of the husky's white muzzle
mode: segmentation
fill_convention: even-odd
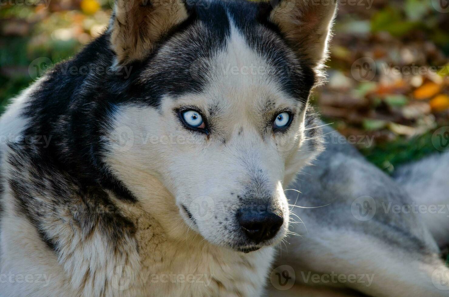
[[[284,223],[281,211],[255,210],[254,207],[244,207],[238,212],[238,222],[245,234],[255,243],[273,238]]]

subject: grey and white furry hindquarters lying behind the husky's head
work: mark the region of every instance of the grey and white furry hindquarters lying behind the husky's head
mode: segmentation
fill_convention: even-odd
[[[338,132],[324,132],[325,152],[286,191],[299,206],[291,231],[302,237],[286,238],[271,296],[360,296],[348,288],[376,297],[449,296],[440,258],[449,243],[449,154],[401,167],[392,179]]]

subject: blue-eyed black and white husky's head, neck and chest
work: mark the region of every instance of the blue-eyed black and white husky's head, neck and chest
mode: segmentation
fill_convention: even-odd
[[[0,120],[0,295],[263,294],[335,10],[118,0]]]

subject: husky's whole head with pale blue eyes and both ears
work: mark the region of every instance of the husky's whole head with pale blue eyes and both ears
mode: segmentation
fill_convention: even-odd
[[[160,220],[182,218],[213,244],[278,243],[283,187],[319,151],[307,105],[334,15],[331,0],[119,0],[113,67],[137,69],[108,126],[114,175]]]

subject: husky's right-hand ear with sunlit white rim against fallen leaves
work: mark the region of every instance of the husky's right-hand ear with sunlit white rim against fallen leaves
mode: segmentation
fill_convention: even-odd
[[[274,4],[277,2],[277,4]],[[299,57],[314,69],[327,57],[336,0],[272,0],[269,21],[276,24]]]

